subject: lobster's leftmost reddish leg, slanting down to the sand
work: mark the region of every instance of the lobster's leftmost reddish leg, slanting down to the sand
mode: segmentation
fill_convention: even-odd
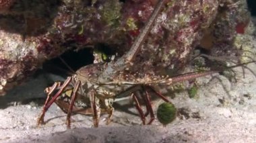
[[[59,95],[61,95],[61,93],[63,93],[63,90],[70,83],[71,79],[72,79],[71,77],[67,77],[66,81],[63,83],[63,85],[61,85],[61,89],[59,89],[59,91],[53,96],[53,98],[51,100],[50,100],[51,93],[53,93],[53,91],[55,91],[55,89],[57,89],[58,83],[54,84],[53,87],[50,89],[47,99],[44,103],[44,107],[42,108],[42,113],[38,117],[37,125],[44,124],[45,112],[49,109],[49,107],[53,104],[53,102],[57,99],[57,97],[59,97]]]

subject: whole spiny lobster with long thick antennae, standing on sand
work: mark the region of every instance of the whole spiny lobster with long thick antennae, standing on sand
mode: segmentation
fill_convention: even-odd
[[[135,101],[135,107],[139,112],[142,124],[146,124],[146,116],[149,114],[150,121],[147,124],[152,124],[155,117],[148,91],[152,91],[164,101],[170,102],[166,97],[154,89],[154,85],[171,85],[181,81],[187,81],[189,79],[218,73],[219,70],[212,70],[179,75],[177,77],[164,76],[160,77],[160,79],[148,78],[133,82],[123,80],[113,81],[113,79],[115,79],[114,77],[117,77],[120,72],[131,67],[133,59],[137,55],[137,52],[139,52],[141,44],[143,44],[143,41],[148,35],[148,32],[152,27],[152,23],[154,23],[154,19],[156,19],[163,3],[164,0],[158,1],[150,19],[148,19],[146,23],[146,26],[143,28],[139,36],[137,36],[127,54],[121,56],[117,61],[84,66],[77,70],[75,75],[72,77],[67,77],[63,83],[56,82],[53,86],[47,87],[45,89],[47,99],[44,103],[42,113],[38,117],[38,125],[44,123],[44,114],[53,102],[57,103],[63,111],[67,112],[67,128],[70,128],[70,117],[73,112],[73,108],[76,113],[92,114],[95,127],[98,127],[100,113],[108,113],[108,120],[106,124],[109,124],[114,112],[114,108],[112,107],[113,101],[116,98],[127,97],[129,95],[131,95]],[[70,103],[61,99],[66,97],[69,98],[68,100],[70,100]],[[141,109],[141,105],[138,101],[139,97],[141,97],[146,104],[146,113],[143,113],[143,110]],[[89,109],[77,111],[75,105],[77,105],[78,101],[81,101],[86,107],[91,107],[91,111]]]

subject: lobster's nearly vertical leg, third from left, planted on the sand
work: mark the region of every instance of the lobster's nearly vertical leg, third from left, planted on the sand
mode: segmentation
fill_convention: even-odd
[[[89,95],[90,95],[90,102],[91,102],[92,113],[93,113],[92,117],[94,120],[94,127],[98,127],[99,110],[97,109],[97,105],[96,105],[95,91],[94,90],[90,91]]]

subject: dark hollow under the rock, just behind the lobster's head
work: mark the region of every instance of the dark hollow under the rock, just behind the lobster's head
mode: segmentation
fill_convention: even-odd
[[[48,73],[61,75],[63,77],[70,76],[73,74],[73,71],[78,70],[82,66],[93,64],[94,52],[104,55],[104,57],[100,57],[104,62],[110,62],[110,56],[115,54],[113,46],[99,43],[93,46],[93,48],[86,47],[79,51],[68,50],[64,54],[61,54],[61,56],[44,62],[42,68]],[[67,65],[61,59],[63,59]],[[68,66],[71,68],[71,70]]]

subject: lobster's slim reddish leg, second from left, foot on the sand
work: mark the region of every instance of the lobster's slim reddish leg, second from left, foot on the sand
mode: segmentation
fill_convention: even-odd
[[[72,113],[72,110],[73,110],[73,105],[75,103],[75,99],[77,97],[77,91],[78,91],[80,85],[81,85],[81,81],[77,81],[75,83],[75,87],[73,89],[73,93],[72,93],[72,96],[71,96],[71,102],[69,104],[69,111],[67,111],[67,120],[66,120],[67,128],[70,128],[70,117],[71,117],[71,113]]]

